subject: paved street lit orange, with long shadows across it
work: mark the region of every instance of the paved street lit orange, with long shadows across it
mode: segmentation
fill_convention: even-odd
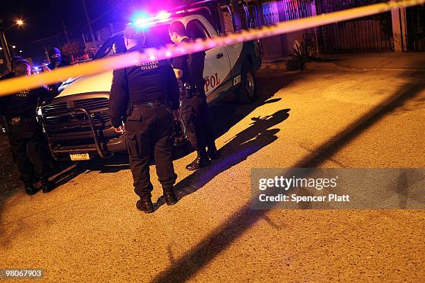
[[[153,214],[135,208],[126,157],[32,197],[0,169],[1,267],[46,282],[424,282],[424,210],[249,209],[251,168],[424,167],[424,73],[266,68],[257,83],[256,103],[211,108],[220,160],[174,162],[177,205],[151,166]]]

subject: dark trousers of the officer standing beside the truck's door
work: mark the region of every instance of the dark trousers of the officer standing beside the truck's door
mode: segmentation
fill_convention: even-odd
[[[215,138],[208,117],[208,103],[203,92],[191,98],[182,98],[180,114],[185,123],[189,142],[196,151],[214,144]]]

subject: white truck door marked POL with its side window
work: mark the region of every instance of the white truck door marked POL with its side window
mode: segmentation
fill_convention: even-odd
[[[206,25],[210,28],[207,28]],[[217,35],[210,24],[203,23],[199,19],[190,20],[186,25],[186,31],[192,40]],[[203,78],[206,81],[205,92],[207,96],[213,92],[219,94],[232,86],[231,65],[226,47],[219,46],[206,51]]]

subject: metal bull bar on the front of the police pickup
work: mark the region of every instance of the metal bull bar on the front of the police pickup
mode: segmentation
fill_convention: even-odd
[[[92,114],[89,110],[86,110],[84,108],[72,108],[67,114],[61,114],[58,115],[58,117],[63,116],[74,116],[76,112],[83,112],[85,116],[88,118],[88,123],[90,126],[90,129],[92,131],[92,137],[94,139],[94,147],[93,146],[87,146],[85,148],[64,148],[64,149],[56,149],[53,146],[53,141],[51,140],[51,137],[49,135],[49,132],[46,130],[44,131],[47,137],[47,144],[49,144],[49,149],[51,151],[51,155],[53,158],[57,161],[64,160],[65,158],[58,157],[57,153],[81,153],[81,152],[97,152],[101,157],[103,158],[109,158],[113,156],[113,153],[110,153],[108,150],[104,150],[101,146],[101,142],[99,140],[99,135],[97,133],[96,126],[94,125],[94,121],[92,118]],[[42,123],[44,128],[44,115],[42,116]]]

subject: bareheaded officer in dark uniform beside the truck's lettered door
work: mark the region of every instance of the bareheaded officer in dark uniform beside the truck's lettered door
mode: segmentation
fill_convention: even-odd
[[[174,44],[190,42],[185,26],[181,22],[174,22],[169,26],[169,37]],[[181,82],[181,118],[185,123],[190,144],[197,151],[197,158],[186,166],[190,171],[208,166],[210,158],[218,157],[203,89],[204,60],[205,52],[199,52],[174,58],[172,62],[176,77]]]

